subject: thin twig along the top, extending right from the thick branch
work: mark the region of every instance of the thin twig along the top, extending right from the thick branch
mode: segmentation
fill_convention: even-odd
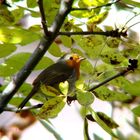
[[[100,6],[94,6],[94,7],[86,7],[86,8],[72,8],[72,11],[76,11],[76,10],[86,10],[86,11],[91,11],[93,9],[98,9],[98,8],[102,8],[102,7],[108,7],[108,6],[111,6],[117,2],[119,2],[120,0],[116,0],[114,2],[111,2],[111,3],[107,3],[107,4],[104,4],[104,5],[100,5]]]

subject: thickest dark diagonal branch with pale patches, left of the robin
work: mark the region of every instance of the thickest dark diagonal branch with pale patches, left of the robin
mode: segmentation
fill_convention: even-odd
[[[19,71],[16,77],[9,83],[9,85],[4,89],[0,98],[0,113],[4,111],[4,107],[8,104],[10,99],[15,95],[20,86],[29,76],[34,67],[41,60],[43,55],[49,49],[50,45],[53,43],[57,34],[66,18],[68,13],[71,10],[72,4],[74,0],[61,0],[60,9],[55,17],[55,20],[52,24],[52,32],[49,36],[45,36],[41,39],[39,45],[33,52],[32,56],[28,60],[28,62],[23,66],[23,68]]]

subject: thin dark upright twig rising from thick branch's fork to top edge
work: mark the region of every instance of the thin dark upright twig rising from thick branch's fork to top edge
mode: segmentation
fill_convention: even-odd
[[[47,23],[46,23],[44,8],[43,8],[43,0],[38,0],[37,3],[38,3],[40,14],[41,14],[41,23],[42,23],[42,26],[43,26],[44,34],[45,34],[45,36],[48,36],[49,31],[48,31],[48,28],[47,28]]]

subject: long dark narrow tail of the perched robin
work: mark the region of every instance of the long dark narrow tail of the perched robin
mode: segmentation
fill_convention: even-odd
[[[21,104],[18,106],[18,109],[21,110],[26,103],[32,98],[32,96],[37,92],[37,89],[34,87],[31,92],[28,94],[28,96],[21,102]]]

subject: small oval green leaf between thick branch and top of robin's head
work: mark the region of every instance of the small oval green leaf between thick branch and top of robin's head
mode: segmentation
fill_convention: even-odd
[[[59,46],[56,43],[53,43],[49,47],[48,52],[50,54],[52,54],[53,56],[56,56],[56,57],[60,57],[61,56],[61,50],[60,50]]]

